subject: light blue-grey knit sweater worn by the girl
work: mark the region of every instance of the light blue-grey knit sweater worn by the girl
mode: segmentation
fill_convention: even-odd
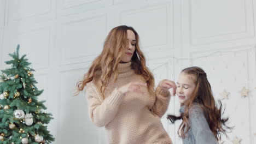
[[[182,106],[179,112],[183,113],[184,109]],[[189,122],[190,129],[187,137],[182,139],[183,144],[218,144],[199,105],[193,105],[189,110]]]

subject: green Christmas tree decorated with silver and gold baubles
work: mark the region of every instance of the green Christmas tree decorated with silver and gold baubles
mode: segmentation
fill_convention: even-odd
[[[39,101],[43,93],[36,87],[31,63],[26,55],[19,58],[16,52],[9,54],[13,59],[5,62],[10,66],[2,71],[0,78],[0,144],[51,143],[53,135],[47,130],[51,119],[45,101]]]

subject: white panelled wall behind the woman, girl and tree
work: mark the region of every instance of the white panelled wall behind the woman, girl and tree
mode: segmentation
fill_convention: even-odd
[[[128,25],[141,37],[148,66],[161,79],[177,81],[179,72],[191,65],[205,69],[216,99],[223,100],[230,125],[225,143],[234,136],[241,143],[256,143],[255,0],[0,0],[0,63],[21,45],[37,70],[40,99],[47,100],[55,119],[49,130],[54,143],[104,143],[104,129],[88,118],[82,93],[73,97],[76,82],[102,50],[110,29]],[[3,33],[4,32],[4,33]],[[242,87],[249,89],[241,98]],[[178,115],[173,97],[167,113]],[[164,127],[174,143],[179,123]]]

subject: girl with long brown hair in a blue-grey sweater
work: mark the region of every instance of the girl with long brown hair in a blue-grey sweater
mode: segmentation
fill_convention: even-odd
[[[222,104],[219,108],[216,106],[205,71],[199,67],[183,69],[176,93],[181,103],[181,116],[168,115],[167,118],[172,123],[177,119],[183,120],[178,130],[183,144],[217,144],[221,138],[220,133],[226,135],[225,128],[230,127],[225,125],[228,118],[221,118]]]

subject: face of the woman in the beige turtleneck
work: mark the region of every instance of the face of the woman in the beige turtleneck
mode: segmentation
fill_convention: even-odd
[[[136,37],[135,37],[135,34],[130,29],[127,30],[127,41],[128,41],[128,47],[121,58],[121,63],[130,62],[133,56],[133,53],[135,52],[135,49],[136,49],[135,47]]]

